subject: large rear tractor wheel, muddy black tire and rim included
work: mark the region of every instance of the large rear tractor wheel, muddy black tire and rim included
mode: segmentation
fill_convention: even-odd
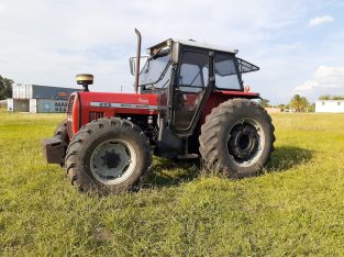
[[[274,131],[270,116],[258,103],[247,99],[223,102],[201,126],[203,163],[231,178],[255,176],[270,158]]]

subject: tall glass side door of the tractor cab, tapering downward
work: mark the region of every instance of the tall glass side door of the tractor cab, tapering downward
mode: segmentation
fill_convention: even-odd
[[[173,87],[171,125],[178,134],[188,133],[209,83],[209,52],[185,49]],[[212,66],[211,66],[212,67]]]

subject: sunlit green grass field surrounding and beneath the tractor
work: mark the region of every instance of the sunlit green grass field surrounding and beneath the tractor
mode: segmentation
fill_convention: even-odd
[[[0,254],[112,256],[344,253],[344,115],[274,114],[262,176],[229,180],[155,159],[138,192],[80,194],[46,165],[63,115],[0,112]]]

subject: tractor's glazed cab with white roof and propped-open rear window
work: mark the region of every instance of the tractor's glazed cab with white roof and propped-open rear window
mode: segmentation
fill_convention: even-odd
[[[191,135],[202,112],[208,112],[203,116],[209,114],[211,109],[207,105],[246,93],[242,74],[259,68],[237,58],[237,52],[169,38],[147,49],[137,86],[141,93],[159,96],[159,112],[170,130],[179,135]],[[133,75],[134,60],[130,59]],[[258,98],[257,93],[246,94]]]

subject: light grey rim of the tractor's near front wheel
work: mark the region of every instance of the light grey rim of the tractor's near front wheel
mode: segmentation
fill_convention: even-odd
[[[121,139],[109,139],[99,144],[90,159],[93,177],[103,185],[118,185],[126,180],[135,170],[136,152]]]

